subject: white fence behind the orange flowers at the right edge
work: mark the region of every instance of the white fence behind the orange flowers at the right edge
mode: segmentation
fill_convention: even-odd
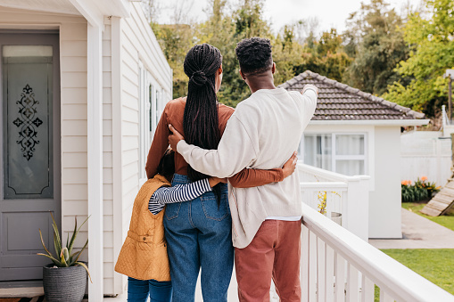
[[[415,182],[426,176],[444,185],[450,178],[451,140],[436,131],[413,131],[400,136],[400,179]]]

